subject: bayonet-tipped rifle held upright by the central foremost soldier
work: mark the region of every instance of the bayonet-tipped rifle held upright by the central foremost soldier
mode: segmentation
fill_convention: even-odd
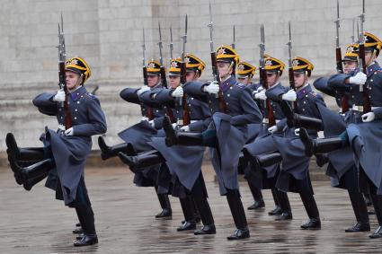
[[[218,63],[217,63],[217,52],[214,48],[214,40],[213,40],[213,31],[214,31],[214,24],[212,22],[212,7],[211,2],[209,2],[209,48],[211,50],[211,64],[212,64],[212,75],[214,77],[214,81],[217,81],[220,85],[220,76],[218,74]],[[216,95],[216,98],[218,98],[218,108],[222,112],[227,112],[227,104],[224,100],[223,92],[221,91],[221,88],[219,88],[218,94]]]

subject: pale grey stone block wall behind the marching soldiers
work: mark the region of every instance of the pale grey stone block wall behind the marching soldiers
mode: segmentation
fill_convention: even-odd
[[[310,59],[316,76],[334,70],[334,0],[215,0],[215,48],[232,43],[242,59],[258,63],[259,27],[265,26],[269,54],[287,62],[288,22],[292,24],[293,54]],[[382,2],[368,0],[365,30],[382,38]],[[360,0],[340,0],[341,44],[351,41],[351,20],[360,14]],[[108,142],[119,142],[118,131],[136,122],[138,107],[120,100],[126,86],[140,86],[142,28],[147,59],[158,58],[157,23],[162,25],[164,63],[169,61],[169,27],[173,27],[174,56],[180,55],[184,16],[189,15],[188,52],[208,65],[202,78],[210,79],[209,1],[207,0],[2,0],[0,5],[0,151],[12,131],[21,145],[39,145],[43,127],[56,127],[42,116],[31,99],[42,91],[58,89],[59,14],[64,16],[67,55],[82,56],[92,67],[87,86],[99,84],[98,96],[107,115]],[[167,65],[168,66],[168,65]],[[94,145],[96,148],[96,145]]]

